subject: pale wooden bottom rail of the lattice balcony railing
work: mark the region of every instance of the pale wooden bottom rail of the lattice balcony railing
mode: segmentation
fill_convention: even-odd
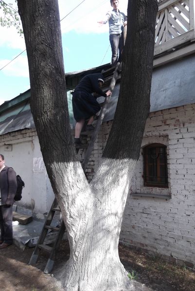
[[[181,45],[187,41],[195,40],[195,30],[192,29],[189,32],[182,33],[181,35],[178,35],[177,37],[170,39],[169,41],[159,45],[155,46],[154,48],[154,56],[168,50],[177,47],[178,45]]]

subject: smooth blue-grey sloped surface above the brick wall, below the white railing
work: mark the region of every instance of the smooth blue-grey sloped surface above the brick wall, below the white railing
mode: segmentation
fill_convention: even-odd
[[[120,91],[117,83],[104,121],[114,118]],[[100,102],[104,99],[99,98]],[[195,54],[153,70],[150,112],[195,103]]]

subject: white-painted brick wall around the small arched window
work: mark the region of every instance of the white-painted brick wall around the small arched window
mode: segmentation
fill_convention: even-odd
[[[88,167],[90,179],[110,127],[111,122],[102,126]],[[169,187],[144,187],[141,148],[124,211],[121,242],[195,268],[195,104],[150,113],[142,147],[150,143],[167,146]]]

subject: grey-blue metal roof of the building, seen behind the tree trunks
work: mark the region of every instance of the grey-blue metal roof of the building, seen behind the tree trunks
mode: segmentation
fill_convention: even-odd
[[[101,72],[109,65],[85,71],[66,74],[67,88],[73,88],[86,74]],[[112,120],[116,110],[120,82],[115,85],[104,121]],[[71,107],[71,94],[68,92],[70,122],[75,123]],[[104,97],[97,99],[104,101]],[[30,110],[30,89],[10,101],[0,105],[0,135],[25,128],[35,128]],[[153,70],[150,95],[150,112],[195,103],[195,54],[157,67]]]

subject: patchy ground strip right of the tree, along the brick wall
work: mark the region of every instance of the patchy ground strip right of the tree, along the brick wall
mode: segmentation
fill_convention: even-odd
[[[129,279],[136,279],[154,290],[195,291],[195,272],[186,265],[178,266],[123,245],[119,246],[119,254],[124,268],[131,270],[128,273]],[[165,287],[160,289],[160,286]]]

